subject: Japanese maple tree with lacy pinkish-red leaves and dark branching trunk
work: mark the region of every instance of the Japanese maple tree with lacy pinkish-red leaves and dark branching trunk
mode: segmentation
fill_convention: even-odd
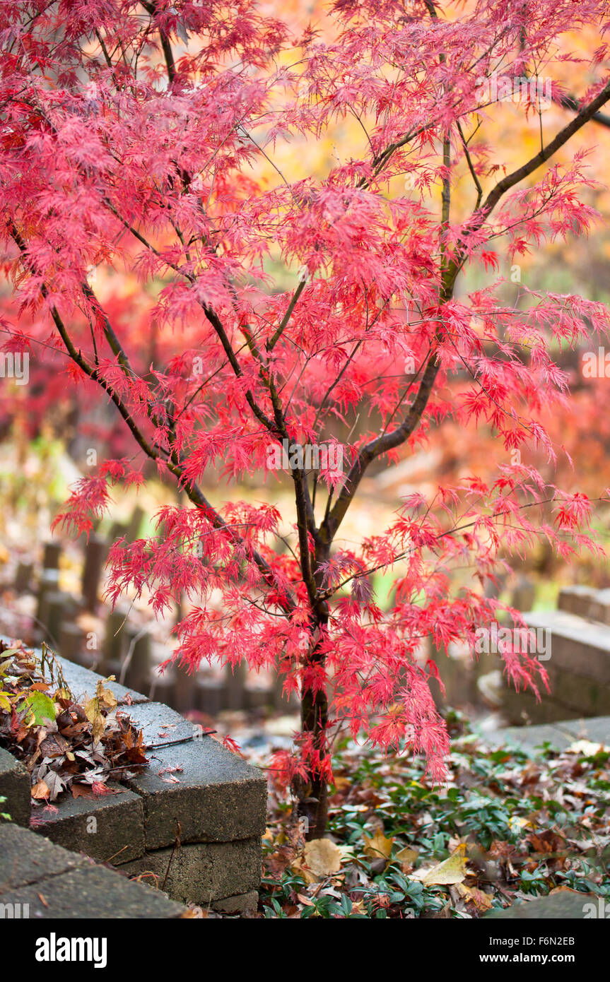
[[[494,621],[481,585],[499,548],[522,553],[538,535],[566,556],[590,545],[589,499],[511,451],[553,456],[539,420],[567,398],[553,352],[605,332],[608,312],[535,292],[526,310],[503,305],[494,270],[497,247],[512,259],[595,217],[578,196],[582,149],[556,155],[610,99],[608,10],[338,0],[319,29],[268,10],[1,0],[1,229],[20,303],[1,326],[7,350],[61,353],[66,384],[97,387],[135,442],[79,482],[58,522],[90,529],[113,484],[141,482],[144,458],[184,489],[189,504],[161,509],[156,537],[113,547],[110,596],[146,591],[161,612],[186,594],[176,657],[193,670],[279,667],[303,731],[272,766],[315,837],[340,732],[422,752],[442,776],[448,736],[421,642],[472,641]],[[597,33],[586,60],[566,52],[574,30]],[[566,61],[582,90],[554,82]],[[508,111],[507,81],[510,111],[538,140],[513,169],[485,138]],[[328,172],[295,177],[287,148],[324,138],[336,145]],[[457,295],[471,263],[489,284]],[[102,301],[94,267],[138,277],[138,332]],[[152,363],[142,332],[158,339]],[[495,479],[414,494],[389,527],[345,541],[367,470],[449,419],[493,432]],[[214,469],[239,480],[276,450],[292,516],[215,507]],[[549,501],[554,523],[536,523]],[[471,587],[454,592],[457,566]],[[378,570],[396,577],[389,611],[371,586]],[[545,683],[535,657],[503,656],[518,687]]]

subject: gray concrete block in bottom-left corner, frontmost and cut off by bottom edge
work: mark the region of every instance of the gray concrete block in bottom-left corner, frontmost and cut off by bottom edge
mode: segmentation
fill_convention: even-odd
[[[27,903],[28,916],[41,920],[150,920],[180,917],[185,911],[164,894],[94,865],[20,887],[1,900],[21,903],[22,909]]]

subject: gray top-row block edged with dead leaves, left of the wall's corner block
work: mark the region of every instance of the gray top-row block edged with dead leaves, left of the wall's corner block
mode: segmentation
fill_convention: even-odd
[[[57,810],[50,814],[45,810],[34,831],[99,862],[120,866],[137,859],[144,851],[141,798],[133,791],[112,787],[119,793],[58,799]]]

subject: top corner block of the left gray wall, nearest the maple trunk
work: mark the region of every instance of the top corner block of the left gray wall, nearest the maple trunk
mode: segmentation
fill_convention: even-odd
[[[166,770],[175,767],[182,770]],[[226,843],[264,832],[263,774],[211,736],[155,750],[146,771],[126,783],[142,796],[147,849],[171,846],[177,822],[183,843]]]

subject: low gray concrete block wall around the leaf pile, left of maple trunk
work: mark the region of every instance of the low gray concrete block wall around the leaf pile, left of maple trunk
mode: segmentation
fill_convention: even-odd
[[[91,696],[93,672],[60,659],[75,696]],[[121,707],[142,730],[148,767],[95,798],[63,796],[36,809],[33,829],[51,842],[110,862],[172,900],[247,913],[255,908],[265,830],[263,774],[162,703],[116,682]],[[3,786],[9,791],[3,791]],[[0,750],[0,794],[29,823],[28,772]]]

